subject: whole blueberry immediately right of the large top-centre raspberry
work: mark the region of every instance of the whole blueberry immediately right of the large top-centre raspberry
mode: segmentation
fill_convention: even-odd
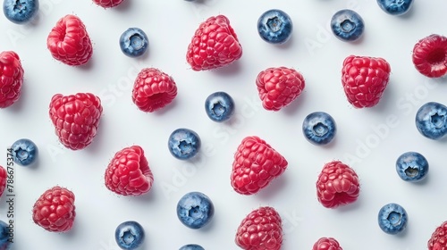
[[[266,11],[257,20],[257,32],[267,43],[287,42],[292,29],[291,17],[281,10]]]

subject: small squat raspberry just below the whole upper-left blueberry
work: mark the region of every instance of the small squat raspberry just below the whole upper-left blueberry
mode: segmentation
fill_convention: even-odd
[[[133,85],[132,101],[141,111],[155,112],[170,104],[177,96],[172,77],[154,68],[139,71]]]

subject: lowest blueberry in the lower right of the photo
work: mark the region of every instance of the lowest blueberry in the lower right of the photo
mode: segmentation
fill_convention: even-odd
[[[408,214],[400,204],[385,204],[379,211],[379,227],[387,234],[398,234],[407,227]]]

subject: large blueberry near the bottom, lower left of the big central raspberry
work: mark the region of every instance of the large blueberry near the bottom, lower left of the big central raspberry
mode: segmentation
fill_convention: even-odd
[[[208,196],[200,192],[190,192],[181,197],[177,204],[177,217],[190,229],[200,229],[207,225],[215,214],[215,207]]]

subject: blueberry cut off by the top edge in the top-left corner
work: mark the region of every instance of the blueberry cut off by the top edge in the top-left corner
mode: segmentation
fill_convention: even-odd
[[[26,23],[38,13],[38,0],[4,0],[3,12],[13,23]]]

